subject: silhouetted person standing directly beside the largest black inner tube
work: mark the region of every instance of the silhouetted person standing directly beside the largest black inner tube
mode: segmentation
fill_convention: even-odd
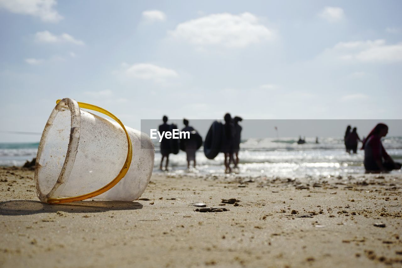
[[[232,168],[230,163],[233,163],[233,151],[234,151],[234,137],[236,135],[236,129],[230,113],[226,113],[224,116],[225,124],[222,135],[222,153],[225,154],[225,172],[231,173]]]

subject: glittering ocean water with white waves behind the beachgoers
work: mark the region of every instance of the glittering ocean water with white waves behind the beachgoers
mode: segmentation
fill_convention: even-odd
[[[240,144],[240,165],[236,170],[240,176],[247,177],[305,177],[305,176],[345,176],[364,173],[364,151],[347,154],[343,138],[306,138],[305,144],[297,144],[297,138],[265,138],[242,140]],[[359,144],[361,145],[361,144]],[[395,161],[402,160],[402,137],[385,137],[383,145]],[[0,166],[22,166],[25,161],[36,157],[39,142],[0,143]],[[160,151],[155,148],[154,172],[159,171]],[[215,159],[207,159],[202,147],[196,154],[197,167],[187,170],[186,155],[180,151],[170,155],[170,172],[199,173],[205,175],[224,174],[223,154]],[[401,171],[392,171],[400,173]]]

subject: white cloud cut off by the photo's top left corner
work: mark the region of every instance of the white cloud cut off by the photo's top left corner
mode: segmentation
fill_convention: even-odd
[[[39,17],[42,21],[57,23],[63,19],[54,6],[55,0],[0,0],[0,8],[12,13]]]

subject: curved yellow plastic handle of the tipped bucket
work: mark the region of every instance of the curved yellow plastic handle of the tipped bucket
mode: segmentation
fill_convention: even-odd
[[[56,103],[59,103],[60,101],[61,100],[58,99],[56,101]],[[119,125],[123,128],[123,130],[126,134],[126,137],[127,137],[127,143],[128,143],[127,158],[126,158],[126,161],[124,162],[124,165],[121,168],[119,174],[111,182],[109,182],[107,185],[103,186],[102,188],[100,188],[96,191],[90,192],[88,194],[80,195],[80,196],[73,196],[73,197],[66,197],[66,198],[49,198],[47,200],[47,202],[49,204],[62,204],[62,203],[67,203],[67,202],[81,201],[84,199],[92,198],[94,196],[103,194],[104,192],[113,188],[113,186],[115,186],[121,179],[123,179],[123,177],[126,175],[128,169],[130,168],[131,159],[133,157],[133,146],[131,144],[131,140],[127,133],[127,130],[125,129],[123,123],[121,123],[119,118],[117,118],[115,115],[113,115],[113,113],[106,111],[105,109],[92,105],[92,104],[78,102],[78,106],[80,106],[80,108],[89,109],[92,111],[98,111],[100,113],[103,113],[104,115],[107,115],[107,116],[113,118],[117,123],[119,123]]]

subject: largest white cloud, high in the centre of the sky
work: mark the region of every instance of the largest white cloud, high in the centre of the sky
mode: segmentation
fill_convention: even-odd
[[[258,18],[249,12],[203,16],[178,24],[170,35],[194,45],[224,47],[246,47],[274,37],[273,31],[260,24]]]

